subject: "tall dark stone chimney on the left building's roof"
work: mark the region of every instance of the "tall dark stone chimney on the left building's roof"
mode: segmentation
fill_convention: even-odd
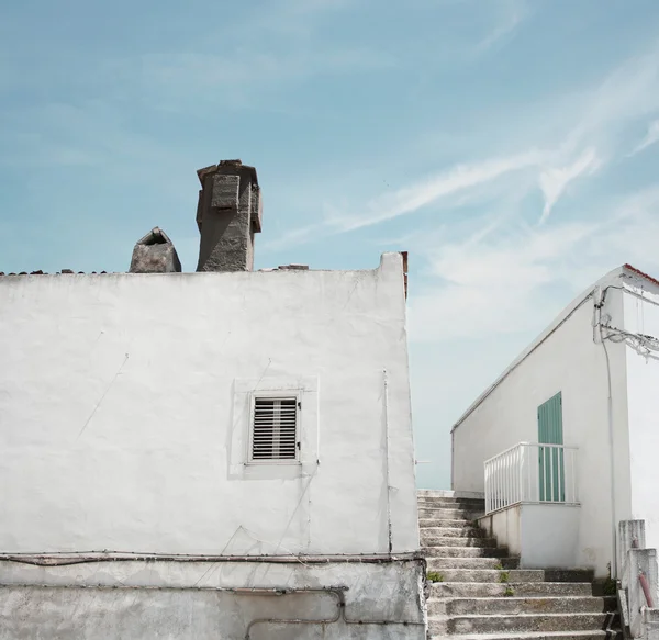
[[[261,231],[263,211],[256,169],[241,160],[222,160],[197,175],[201,182],[197,270],[252,271],[254,234]]]

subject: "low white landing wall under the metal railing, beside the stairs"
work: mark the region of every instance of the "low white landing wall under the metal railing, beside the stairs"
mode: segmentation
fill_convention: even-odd
[[[521,569],[574,569],[581,507],[517,504],[479,518],[488,536],[520,558]]]

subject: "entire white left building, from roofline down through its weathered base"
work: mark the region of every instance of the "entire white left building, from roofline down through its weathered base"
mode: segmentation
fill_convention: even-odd
[[[0,638],[424,638],[404,279],[0,277]]]

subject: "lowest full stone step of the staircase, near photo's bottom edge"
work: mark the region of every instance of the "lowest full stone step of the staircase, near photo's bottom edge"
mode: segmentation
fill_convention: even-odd
[[[428,617],[431,633],[498,633],[599,631],[606,628],[608,614],[520,614],[516,616],[433,616]]]

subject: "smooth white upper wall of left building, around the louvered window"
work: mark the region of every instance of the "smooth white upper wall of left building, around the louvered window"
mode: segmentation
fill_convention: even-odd
[[[0,278],[0,359],[2,552],[382,553],[388,512],[418,549],[399,254]],[[248,392],[288,388],[301,463],[246,467]]]

